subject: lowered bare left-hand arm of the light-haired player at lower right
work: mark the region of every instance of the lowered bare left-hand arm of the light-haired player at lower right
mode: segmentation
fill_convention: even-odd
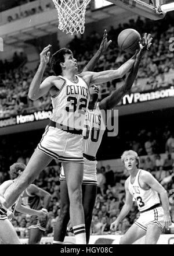
[[[126,215],[131,211],[132,205],[133,205],[133,197],[128,189],[129,184],[129,178],[125,181],[125,191],[126,191],[126,198],[125,198],[125,204],[121,209],[121,212],[119,213],[117,219],[111,223],[110,229],[111,230],[117,230],[117,227],[119,225],[119,222],[121,222]]]

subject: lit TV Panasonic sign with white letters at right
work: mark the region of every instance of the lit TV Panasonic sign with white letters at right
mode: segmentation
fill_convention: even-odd
[[[156,90],[155,92],[131,93],[131,94],[126,94],[123,97],[122,105],[150,101],[150,100],[164,99],[164,98],[173,97],[173,96],[174,96],[173,86],[171,86],[169,89]]]

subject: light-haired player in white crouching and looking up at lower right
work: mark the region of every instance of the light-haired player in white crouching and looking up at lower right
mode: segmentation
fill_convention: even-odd
[[[121,237],[119,243],[132,244],[146,235],[145,244],[156,244],[163,226],[168,227],[172,224],[167,192],[148,171],[139,169],[139,157],[135,151],[125,151],[121,160],[130,176],[125,181],[125,204],[110,228],[117,229],[119,222],[131,210],[134,199],[140,211],[140,217]]]

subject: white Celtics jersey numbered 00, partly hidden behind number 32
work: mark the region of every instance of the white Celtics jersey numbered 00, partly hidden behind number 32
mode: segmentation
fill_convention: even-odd
[[[102,110],[103,111],[103,110]],[[95,110],[87,110],[84,122],[84,153],[89,156],[96,156],[104,131],[106,129],[106,121],[104,115],[97,103]]]

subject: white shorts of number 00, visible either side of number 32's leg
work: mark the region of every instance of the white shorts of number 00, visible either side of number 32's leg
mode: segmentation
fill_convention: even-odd
[[[82,184],[84,185],[97,185],[97,161],[89,161],[84,157],[84,177]],[[60,181],[66,180],[64,176],[63,166],[60,169]]]

